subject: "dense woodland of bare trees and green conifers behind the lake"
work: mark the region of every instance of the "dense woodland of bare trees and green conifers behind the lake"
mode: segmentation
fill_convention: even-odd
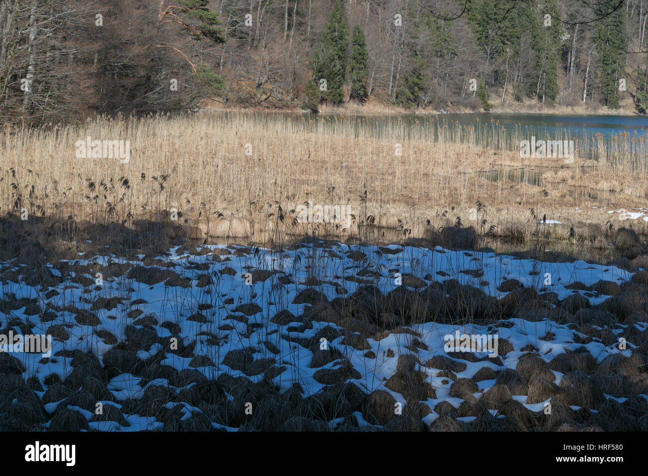
[[[0,0],[0,109],[6,122],[349,101],[645,113],[647,21],[648,0]]]

